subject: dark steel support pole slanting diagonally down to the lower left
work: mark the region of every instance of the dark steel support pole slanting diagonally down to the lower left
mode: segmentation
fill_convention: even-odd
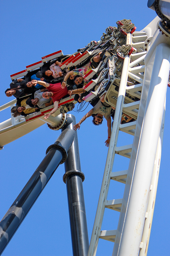
[[[74,131],[66,129],[60,134],[55,143],[48,147],[46,151],[47,155],[2,218],[0,222],[0,255],[59,164],[66,160],[67,152],[70,149],[73,140]]]

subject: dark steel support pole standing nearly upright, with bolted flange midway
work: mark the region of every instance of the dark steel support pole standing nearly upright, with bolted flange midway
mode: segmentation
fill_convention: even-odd
[[[74,115],[67,128],[73,129],[76,124]],[[67,129],[66,128],[66,129]],[[83,194],[84,174],[81,172],[77,132],[65,162],[63,181],[67,187],[67,198],[70,215],[71,240],[74,256],[87,256],[89,248],[86,211]]]

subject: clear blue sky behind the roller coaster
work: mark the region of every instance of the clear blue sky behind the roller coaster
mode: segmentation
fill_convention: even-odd
[[[26,65],[40,61],[42,56],[62,50],[72,54],[91,40],[100,40],[108,26],[116,21],[131,19],[137,30],[144,28],[156,16],[147,8],[147,1],[1,1],[1,103],[9,101],[4,91],[10,75],[25,69]],[[170,88],[167,90],[164,142],[159,174],[148,255],[169,255],[169,116]],[[14,98],[13,98],[14,99]],[[10,98],[12,100],[12,97]],[[75,115],[77,121],[90,110]],[[2,113],[3,112],[3,113]],[[10,110],[0,113],[0,122],[10,118]],[[45,156],[47,147],[57,139],[59,131],[50,130],[46,124],[20,139],[4,146],[1,155],[0,219],[3,218],[19,192]],[[46,136],[45,136],[46,135]],[[78,131],[79,151],[86,205],[89,240],[103,178],[108,149],[106,121],[96,127],[91,118]],[[133,136],[120,132],[118,146],[133,142]],[[129,159],[116,155],[113,171],[128,168]],[[70,223],[66,185],[62,181],[61,165],[30,210],[3,255],[71,256]],[[124,184],[112,181],[108,200],[122,198]],[[106,209],[102,230],[117,228],[119,213]],[[109,220],[109,221],[108,221]],[[98,256],[112,255],[113,243],[100,240]]]

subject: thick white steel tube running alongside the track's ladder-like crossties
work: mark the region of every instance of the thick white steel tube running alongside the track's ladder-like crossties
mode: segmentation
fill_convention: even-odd
[[[139,145],[135,149],[137,150],[137,155],[134,159],[134,175],[130,187],[130,195],[128,196],[120,244],[118,246],[118,253],[113,250],[113,255],[134,256],[138,255],[139,252],[164,110],[170,69],[169,62],[170,47],[167,44],[159,44],[151,56],[146,68],[150,70],[151,67],[153,67],[151,82],[142,122]],[[148,83],[148,79],[149,77],[147,76],[146,70],[146,83]],[[132,166],[130,165],[129,168],[131,167]]]

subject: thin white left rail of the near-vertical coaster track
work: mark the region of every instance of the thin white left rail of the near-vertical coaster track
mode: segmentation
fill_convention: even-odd
[[[128,34],[126,44],[131,44],[131,40],[132,40],[131,34]],[[90,242],[90,246],[89,246],[88,256],[96,255],[98,240],[101,235],[101,224],[102,224],[104,209],[105,209],[104,202],[107,198],[108,188],[109,188],[109,183],[110,183],[109,177],[110,177],[110,172],[113,168],[115,145],[117,144],[119,124],[121,121],[121,113],[122,113],[123,102],[124,102],[124,98],[125,98],[125,90],[126,90],[126,84],[127,84],[127,79],[128,79],[129,64],[130,64],[130,56],[126,55],[124,64],[123,64],[121,83],[120,83],[120,87],[119,87],[119,93],[118,93],[118,97],[117,97],[117,105],[116,105],[114,122],[113,122],[113,129],[112,129],[112,134],[111,134],[111,138],[110,138],[110,146],[108,149],[106,166],[104,169],[104,177],[103,177],[103,181],[102,181],[95,222],[94,222],[93,231],[92,231],[92,235],[91,235],[91,242]],[[114,234],[115,234],[115,231],[114,231]]]

